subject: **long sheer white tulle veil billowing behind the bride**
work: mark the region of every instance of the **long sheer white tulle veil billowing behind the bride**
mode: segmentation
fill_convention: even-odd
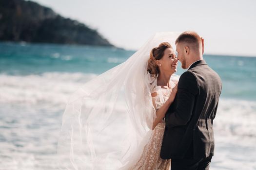
[[[156,78],[147,71],[150,51],[161,42],[175,49],[178,35],[155,34],[124,63],[69,98],[58,141],[60,169],[125,170],[138,160],[156,118],[151,98]]]

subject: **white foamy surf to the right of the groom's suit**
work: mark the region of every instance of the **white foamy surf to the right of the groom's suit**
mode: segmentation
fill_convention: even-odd
[[[256,170],[256,102],[222,99],[214,121],[212,170]]]

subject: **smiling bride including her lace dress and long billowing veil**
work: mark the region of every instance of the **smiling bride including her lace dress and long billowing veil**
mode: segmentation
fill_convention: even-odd
[[[70,97],[58,141],[60,169],[170,169],[160,148],[163,118],[177,93],[177,36],[155,34]]]

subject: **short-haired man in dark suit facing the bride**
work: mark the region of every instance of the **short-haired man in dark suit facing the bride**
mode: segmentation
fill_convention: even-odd
[[[204,41],[196,32],[180,34],[176,46],[181,67],[188,70],[180,76],[176,99],[165,115],[160,155],[172,159],[171,170],[209,170],[221,80],[203,60]]]

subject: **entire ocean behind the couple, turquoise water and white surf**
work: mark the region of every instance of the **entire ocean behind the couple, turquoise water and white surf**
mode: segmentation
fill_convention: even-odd
[[[0,43],[0,170],[57,170],[68,97],[135,51]],[[211,170],[256,170],[256,57],[204,55],[223,88]],[[177,74],[184,72],[178,65]]]

